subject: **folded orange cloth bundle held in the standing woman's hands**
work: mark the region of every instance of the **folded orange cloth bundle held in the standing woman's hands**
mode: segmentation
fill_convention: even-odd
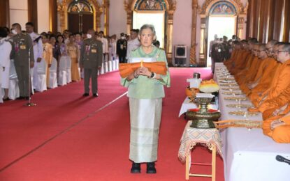
[[[120,63],[119,64],[119,74],[122,78],[128,77],[129,74],[133,73],[140,67],[145,67],[157,74],[166,75],[167,68],[165,62],[138,62],[138,63]]]

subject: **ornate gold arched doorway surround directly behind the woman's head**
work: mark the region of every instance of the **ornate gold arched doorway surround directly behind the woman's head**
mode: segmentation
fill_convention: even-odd
[[[127,33],[133,29],[134,13],[159,13],[164,15],[163,39],[166,50],[167,61],[172,65],[172,35],[173,35],[173,14],[176,9],[176,1],[173,0],[125,0],[125,10],[127,13]],[[157,39],[160,38],[157,37]],[[162,41],[162,40],[161,40]]]

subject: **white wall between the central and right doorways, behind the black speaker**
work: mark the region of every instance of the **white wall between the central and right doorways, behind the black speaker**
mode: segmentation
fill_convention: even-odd
[[[173,17],[173,63],[174,45],[187,45],[187,65],[189,65],[191,47],[191,0],[177,1],[176,10]]]

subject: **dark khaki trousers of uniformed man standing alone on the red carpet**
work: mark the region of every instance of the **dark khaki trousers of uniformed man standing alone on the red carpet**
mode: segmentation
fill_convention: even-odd
[[[92,93],[98,93],[98,68],[84,68],[85,93],[89,93],[89,79],[92,77]]]

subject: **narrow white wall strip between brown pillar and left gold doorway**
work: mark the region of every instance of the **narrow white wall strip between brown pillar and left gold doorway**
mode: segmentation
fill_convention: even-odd
[[[49,0],[37,0],[38,33],[50,30],[49,14]]]

